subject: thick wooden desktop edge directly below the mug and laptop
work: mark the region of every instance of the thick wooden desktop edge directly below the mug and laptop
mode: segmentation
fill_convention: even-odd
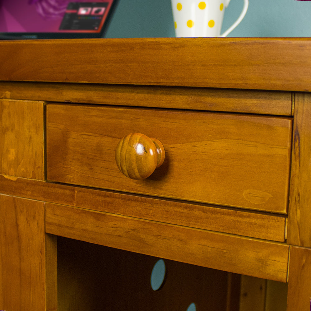
[[[309,38],[21,40],[1,47],[5,81],[311,88]]]

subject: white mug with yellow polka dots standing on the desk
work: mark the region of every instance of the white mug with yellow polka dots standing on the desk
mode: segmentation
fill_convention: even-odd
[[[220,35],[225,8],[230,0],[171,0],[176,37],[225,37],[244,18],[248,0],[235,23]]]

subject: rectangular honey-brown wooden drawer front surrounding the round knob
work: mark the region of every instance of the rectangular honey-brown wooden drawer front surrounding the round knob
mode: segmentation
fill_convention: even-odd
[[[50,181],[247,209],[287,212],[291,118],[47,105]],[[131,132],[159,139],[163,165],[147,179],[125,177],[115,163]]]

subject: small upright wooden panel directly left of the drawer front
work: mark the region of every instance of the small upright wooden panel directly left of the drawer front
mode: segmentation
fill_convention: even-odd
[[[0,174],[44,179],[43,102],[0,100]]]

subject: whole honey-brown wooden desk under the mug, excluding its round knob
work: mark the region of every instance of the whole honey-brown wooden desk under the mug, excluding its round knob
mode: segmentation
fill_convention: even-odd
[[[59,236],[288,282],[287,310],[309,311],[310,53],[303,38],[1,42],[0,309],[67,308]],[[115,164],[132,132],[165,149],[143,180]]]

